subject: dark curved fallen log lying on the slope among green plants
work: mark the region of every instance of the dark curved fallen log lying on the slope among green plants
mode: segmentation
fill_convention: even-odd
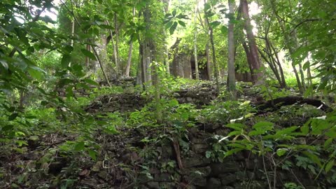
[[[255,103],[255,106],[258,110],[257,114],[262,114],[266,112],[272,112],[279,110],[281,106],[288,106],[293,104],[309,104],[311,106],[315,106],[318,109],[321,109],[321,111],[330,112],[332,111],[332,108],[330,106],[324,104],[321,102],[321,100],[318,99],[309,99],[299,96],[288,96],[288,97],[279,97],[273,100],[269,100],[266,102],[258,102]]]

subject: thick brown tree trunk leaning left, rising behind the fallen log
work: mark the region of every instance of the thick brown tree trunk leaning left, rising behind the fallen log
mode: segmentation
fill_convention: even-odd
[[[251,53],[251,68],[252,68],[252,78],[253,83],[260,85],[263,83],[263,70],[262,70],[262,64],[260,62],[260,58],[258,55],[258,47],[255,43],[255,36],[253,34],[253,26],[251,25],[251,18],[248,14],[248,3],[246,0],[241,0],[241,12],[242,16],[245,21],[244,28],[246,30],[246,36],[248,40],[248,47],[249,51]]]

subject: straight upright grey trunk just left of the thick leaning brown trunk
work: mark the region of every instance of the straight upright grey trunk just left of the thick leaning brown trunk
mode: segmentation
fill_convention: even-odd
[[[228,0],[229,3],[229,31],[228,31],[228,90],[232,94],[232,99],[236,99],[236,78],[235,78],[235,38],[233,16],[235,14],[235,0]]]

